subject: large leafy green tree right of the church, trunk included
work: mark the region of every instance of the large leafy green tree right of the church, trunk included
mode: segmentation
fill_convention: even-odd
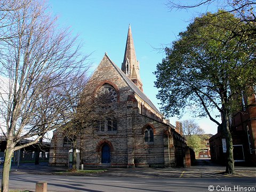
[[[189,107],[222,128],[226,173],[231,174],[235,169],[229,117],[241,110],[242,98],[252,94],[256,83],[256,38],[247,38],[246,27],[222,10],[196,18],[172,47],[165,48],[166,58],[155,72],[157,97],[167,116],[182,115]],[[213,108],[220,112],[222,123],[211,114]]]

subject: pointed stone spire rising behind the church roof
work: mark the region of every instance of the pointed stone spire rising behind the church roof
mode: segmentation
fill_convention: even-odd
[[[136,59],[135,48],[132,38],[132,29],[131,25],[129,24],[124,52],[124,61],[122,63],[122,71],[132,80],[135,85],[139,87],[141,91],[143,91],[139,70],[139,61],[137,61]]]

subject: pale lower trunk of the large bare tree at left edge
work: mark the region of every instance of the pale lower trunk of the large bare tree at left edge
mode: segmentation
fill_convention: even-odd
[[[10,166],[11,166],[11,158],[14,151],[14,143],[10,140],[7,140],[7,145],[5,149],[5,157],[4,157],[4,167],[2,173],[2,192],[9,191],[9,174],[10,174]]]

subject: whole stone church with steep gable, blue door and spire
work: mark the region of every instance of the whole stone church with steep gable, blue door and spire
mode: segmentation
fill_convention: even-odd
[[[90,118],[92,123],[81,124],[83,129],[76,135],[79,164],[84,167],[190,166],[189,148],[179,123],[176,127],[171,125],[143,93],[130,25],[121,69],[105,53],[84,92],[91,95],[84,103],[94,106],[93,115],[86,117],[94,118]],[[55,130],[50,165],[68,166],[71,149],[65,131]]]

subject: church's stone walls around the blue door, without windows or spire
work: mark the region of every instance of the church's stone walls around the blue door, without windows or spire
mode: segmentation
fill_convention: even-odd
[[[141,114],[141,100],[136,99],[134,90],[106,55],[85,90],[95,95],[104,84],[113,86],[117,92],[117,131],[99,132],[96,127],[84,127],[84,133],[77,135],[80,163],[84,166],[106,166],[101,163],[101,149],[107,144],[111,151],[111,163],[107,166],[163,167],[177,165],[177,161],[183,164],[185,141],[179,140],[177,135],[174,137],[169,125],[150,118],[148,114]],[[147,127],[153,130],[154,141],[145,141]],[[50,165],[67,166],[69,149],[71,145],[63,143],[61,130],[55,131],[51,142]]]

